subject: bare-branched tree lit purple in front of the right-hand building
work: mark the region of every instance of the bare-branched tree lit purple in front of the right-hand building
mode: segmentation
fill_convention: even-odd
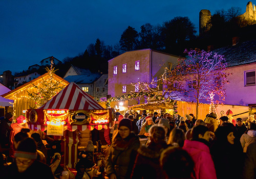
[[[200,49],[185,49],[184,53],[187,54],[187,58],[179,59],[175,68],[183,76],[182,81],[185,85],[180,86],[183,96],[197,101],[198,116],[200,100],[212,100],[210,94],[217,96],[214,99],[215,104],[225,100],[224,85],[229,83],[229,73],[225,72],[227,63],[223,55]]]

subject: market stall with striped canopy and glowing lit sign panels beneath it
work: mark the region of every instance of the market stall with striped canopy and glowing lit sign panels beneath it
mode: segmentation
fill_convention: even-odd
[[[48,135],[65,137],[65,143],[68,143],[68,146],[65,144],[65,149],[68,148],[69,154],[65,157],[69,167],[74,167],[76,164],[79,142],[76,131],[108,129],[114,114],[113,109],[101,107],[74,82],[40,108],[26,110],[26,118],[31,130],[47,130]]]

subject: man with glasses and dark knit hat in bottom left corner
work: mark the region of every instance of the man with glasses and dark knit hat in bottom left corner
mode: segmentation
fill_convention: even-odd
[[[15,153],[15,161],[0,171],[1,178],[54,179],[51,168],[39,162],[36,158],[37,152],[34,139],[28,137],[20,141]]]

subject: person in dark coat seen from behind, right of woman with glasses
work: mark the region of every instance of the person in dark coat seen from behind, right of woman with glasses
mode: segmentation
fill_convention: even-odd
[[[146,145],[140,146],[131,178],[164,178],[159,159],[161,152],[167,148],[166,133],[161,125],[150,128],[150,139]]]

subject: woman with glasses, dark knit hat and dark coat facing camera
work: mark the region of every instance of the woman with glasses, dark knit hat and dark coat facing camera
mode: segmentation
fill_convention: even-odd
[[[113,136],[109,155],[106,156],[106,175],[110,179],[130,178],[139,147],[139,137],[132,132],[132,121],[122,119],[118,124],[118,132]]]

